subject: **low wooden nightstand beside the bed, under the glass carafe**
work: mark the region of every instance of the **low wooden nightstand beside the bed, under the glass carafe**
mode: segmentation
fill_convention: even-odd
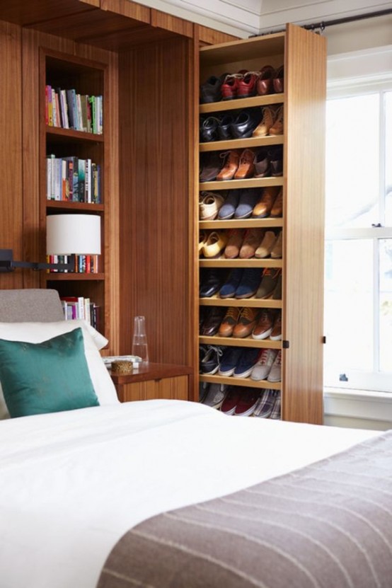
[[[141,367],[132,374],[112,374],[117,396],[121,402],[150,400],[151,398],[190,398],[193,370],[191,367],[172,364],[153,364]]]

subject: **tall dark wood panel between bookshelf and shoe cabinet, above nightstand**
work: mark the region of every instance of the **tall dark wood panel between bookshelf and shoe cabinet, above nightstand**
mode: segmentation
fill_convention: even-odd
[[[188,42],[120,55],[120,352],[146,316],[150,361],[186,365],[190,327]]]

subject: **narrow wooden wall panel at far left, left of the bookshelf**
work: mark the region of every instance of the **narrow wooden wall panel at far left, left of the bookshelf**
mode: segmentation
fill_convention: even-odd
[[[0,248],[23,255],[21,28],[0,21]],[[0,288],[23,287],[21,272],[0,273]]]

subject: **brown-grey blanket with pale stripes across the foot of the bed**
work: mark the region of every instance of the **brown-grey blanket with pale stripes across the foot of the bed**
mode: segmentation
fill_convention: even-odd
[[[132,586],[392,588],[392,430],[135,526],[98,582]]]

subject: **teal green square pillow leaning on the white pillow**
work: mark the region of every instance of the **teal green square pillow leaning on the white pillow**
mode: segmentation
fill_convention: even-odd
[[[11,417],[99,405],[81,328],[42,343],[0,339],[0,381]]]

